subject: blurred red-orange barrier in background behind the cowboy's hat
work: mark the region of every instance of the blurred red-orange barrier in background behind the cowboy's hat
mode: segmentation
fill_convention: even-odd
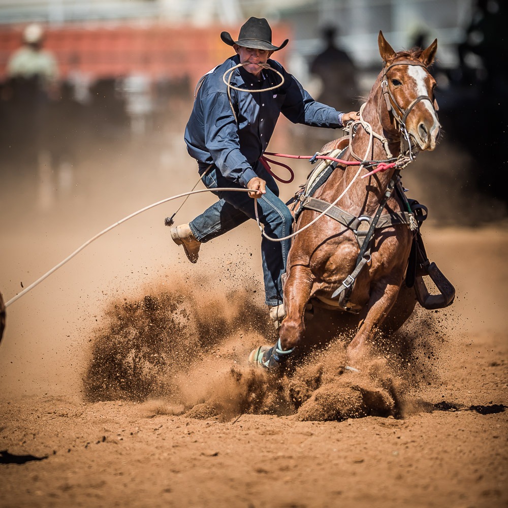
[[[22,29],[0,28],[0,80],[5,78],[9,56],[21,44]],[[80,71],[92,81],[139,73],[151,79],[188,77],[195,83],[234,53],[220,40],[224,29],[234,37],[239,27],[65,25],[46,28],[44,47],[55,54],[62,79],[71,71]],[[287,27],[274,27],[274,43],[288,37]],[[277,53],[277,59],[283,62],[283,53]]]

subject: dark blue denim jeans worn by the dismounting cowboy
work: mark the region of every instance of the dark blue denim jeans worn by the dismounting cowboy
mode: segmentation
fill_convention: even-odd
[[[200,173],[203,173],[205,169],[200,167]],[[275,180],[261,163],[258,162],[253,169],[260,178],[266,181],[266,194],[257,200],[259,220],[264,225],[265,233],[271,238],[283,238],[290,235],[293,217],[289,208],[278,197],[279,189]],[[210,189],[245,188],[226,179],[215,166],[212,166],[201,179]],[[219,201],[189,223],[190,230],[196,239],[203,243],[231,231],[249,218],[256,219],[254,210],[256,200],[249,198],[246,192],[220,191],[214,194],[218,196]],[[274,306],[282,303],[281,276],[285,272],[290,245],[290,240],[272,242],[265,237],[261,239],[267,305]]]

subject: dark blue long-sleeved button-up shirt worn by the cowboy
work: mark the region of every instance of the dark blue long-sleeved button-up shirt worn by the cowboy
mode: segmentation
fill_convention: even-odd
[[[206,75],[185,128],[185,143],[200,169],[213,163],[226,178],[247,186],[258,176],[253,168],[270,142],[280,113],[293,123],[332,129],[342,124],[338,111],[314,101],[280,63],[271,59],[270,67],[284,76],[284,84],[255,93],[231,89],[237,123],[223,76],[239,62],[238,55],[232,56]],[[233,86],[249,90],[269,88],[280,81],[278,74],[267,69],[260,79],[241,67],[231,76]]]

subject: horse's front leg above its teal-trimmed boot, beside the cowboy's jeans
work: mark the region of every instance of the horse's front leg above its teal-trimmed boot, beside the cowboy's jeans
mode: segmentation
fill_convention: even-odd
[[[310,298],[312,273],[306,266],[296,265],[284,284],[284,307],[286,316],[279,329],[282,350],[293,350],[303,337],[305,325],[303,315]]]

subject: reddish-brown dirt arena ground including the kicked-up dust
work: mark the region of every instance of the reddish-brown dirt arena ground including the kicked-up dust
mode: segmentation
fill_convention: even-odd
[[[4,299],[123,216],[191,188],[192,161],[170,148],[84,156],[51,205],[33,175],[3,186]],[[189,200],[180,220],[211,202]],[[429,220],[427,253],[456,301],[417,312],[385,361],[344,370],[339,337],[274,379],[244,365],[269,334],[256,225],[191,266],[163,225],[176,207],[125,223],[8,307],[0,506],[508,505],[505,222]]]

